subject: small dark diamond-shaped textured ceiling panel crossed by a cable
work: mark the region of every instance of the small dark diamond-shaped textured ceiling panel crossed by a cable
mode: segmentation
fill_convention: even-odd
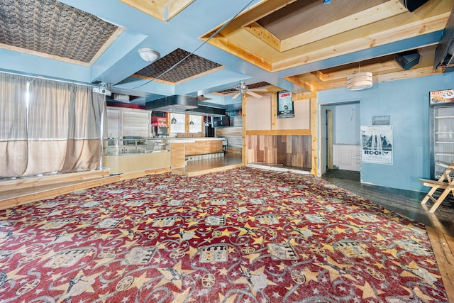
[[[136,74],[140,76],[157,78],[167,82],[180,82],[184,79],[194,77],[204,72],[209,72],[217,67],[221,67],[216,62],[207,60],[198,55],[189,55],[186,50],[177,48],[169,55],[160,58],[156,62],[144,67],[142,70],[139,70]],[[189,57],[187,57],[189,55]],[[186,59],[184,59],[187,57]],[[183,62],[176,65],[180,60]],[[164,75],[162,75],[164,73]]]

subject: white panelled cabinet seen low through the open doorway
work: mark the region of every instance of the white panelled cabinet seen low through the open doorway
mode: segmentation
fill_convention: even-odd
[[[359,172],[361,169],[360,145],[334,144],[333,165],[337,166],[339,170]]]

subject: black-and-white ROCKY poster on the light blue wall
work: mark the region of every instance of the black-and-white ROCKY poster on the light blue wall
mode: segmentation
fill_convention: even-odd
[[[392,164],[392,126],[361,126],[361,162]]]

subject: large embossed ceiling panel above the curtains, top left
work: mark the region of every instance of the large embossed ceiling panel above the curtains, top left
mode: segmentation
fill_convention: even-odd
[[[0,43],[90,62],[117,26],[54,0],[1,0]]]

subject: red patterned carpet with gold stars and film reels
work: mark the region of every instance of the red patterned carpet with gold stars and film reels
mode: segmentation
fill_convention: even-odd
[[[150,175],[0,220],[0,302],[447,302],[423,225],[310,175]]]

